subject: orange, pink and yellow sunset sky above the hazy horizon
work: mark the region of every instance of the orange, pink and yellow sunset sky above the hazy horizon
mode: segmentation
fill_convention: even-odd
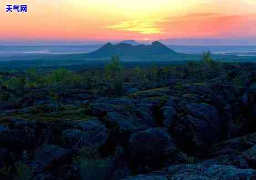
[[[27,13],[6,13],[7,4],[27,4]],[[256,45],[256,0],[2,0],[0,23],[0,44],[229,39]]]

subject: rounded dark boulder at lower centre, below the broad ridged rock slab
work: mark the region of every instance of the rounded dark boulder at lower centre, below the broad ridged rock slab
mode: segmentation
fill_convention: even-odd
[[[172,138],[162,128],[132,133],[129,139],[130,161],[137,168],[159,168],[176,151]]]

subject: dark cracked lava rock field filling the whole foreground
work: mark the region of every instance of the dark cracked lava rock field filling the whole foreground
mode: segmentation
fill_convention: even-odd
[[[256,179],[256,66],[204,71],[120,96],[2,86],[0,179]]]

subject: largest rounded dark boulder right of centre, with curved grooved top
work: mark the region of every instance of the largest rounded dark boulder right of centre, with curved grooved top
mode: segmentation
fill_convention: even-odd
[[[221,140],[221,121],[215,107],[203,103],[189,104],[187,113],[190,115],[178,119],[171,130],[182,148],[196,152]]]

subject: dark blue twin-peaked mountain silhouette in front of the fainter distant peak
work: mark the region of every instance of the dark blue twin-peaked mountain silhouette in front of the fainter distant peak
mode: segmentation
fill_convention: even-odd
[[[180,53],[173,51],[160,42],[153,42],[151,45],[131,45],[127,43],[111,44],[107,43],[100,49],[89,53],[90,57],[100,58],[119,55],[121,57],[139,57],[139,56],[156,56],[169,55],[175,56]]]

